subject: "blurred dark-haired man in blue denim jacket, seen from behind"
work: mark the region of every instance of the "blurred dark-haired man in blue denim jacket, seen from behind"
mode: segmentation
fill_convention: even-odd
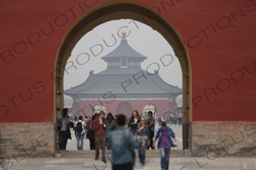
[[[116,118],[115,131],[109,134],[108,145],[112,148],[112,170],[132,170],[135,163],[134,149],[139,147],[134,135],[125,129],[125,115],[120,114]]]

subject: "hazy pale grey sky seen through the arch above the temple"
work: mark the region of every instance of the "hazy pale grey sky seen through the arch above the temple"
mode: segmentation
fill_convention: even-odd
[[[138,21],[131,21],[132,20],[112,20],[103,23],[96,26],[77,42],[77,45],[75,45],[71,53],[71,57],[68,59],[68,62],[74,62],[74,66],[77,67],[77,70],[72,67],[71,69],[68,69],[68,73],[65,73],[64,89],[83,83],[89,76],[90,70],[94,70],[93,73],[100,73],[101,71],[106,70],[107,63],[100,59],[100,57],[109,54],[109,52],[119,46],[121,42],[119,36],[122,36],[122,31],[127,32],[126,39],[128,40],[128,45],[130,45],[131,48],[134,48],[135,51],[147,57],[147,59],[141,63],[143,70],[147,70],[147,66],[151,63],[158,63],[160,65],[159,74],[161,78],[170,85],[178,85],[179,88],[182,88],[181,66],[179,60],[175,57],[172,47],[166,42],[166,39],[150,26]],[[129,32],[130,34],[128,35]],[[113,36],[115,37],[116,42]],[[104,40],[106,44],[112,46],[107,47]],[[96,57],[94,57],[93,53]],[[170,64],[164,66],[160,61],[161,57],[163,57],[162,60],[165,65]],[[79,65],[78,63],[85,64]],[[71,66],[71,63],[68,63],[66,68],[69,66]],[[148,67],[149,72],[153,73],[153,70],[158,70],[156,64],[152,64]]]

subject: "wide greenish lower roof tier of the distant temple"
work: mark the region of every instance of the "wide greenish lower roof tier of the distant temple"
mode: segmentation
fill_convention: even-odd
[[[123,86],[126,86],[128,85],[128,84],[125,84],[126,80],[131,80],[131,85],[128,85],[128,87],[125,88],[128,91],[125,94],[132,93],[132,91],[129,89],[134,88],[136,85],[137,85],[136,86],[137,88],[134,88],[134,91],[136,91],[136,89],[138,88],[143,87],[143,91],[147,91],[148,94],[155,93],[154,91],[162,91],[162,90],[166,91],[166,93],[172,92],[172,94],[175,94],[175,95],[182,94],[181,88],[178,88],[174,85],[169,85],[168,83],[164,82],[158,73],[154,75],[148,75],[146,71],[142,70],[142,72],[144,73],[144,76],[147,77],[147,79],[145,79],[144,77],[137,79],[137,82],[139,83],[139,85],[137,85],[137,82],[135,82],[133,78],[134,74],[138,72],[135,72],[134,74],[104,74],[104,73],[90,74],[85,82],[83,82],[81,85],[77,85],[73,88],[66,90],[65,94],[71,95],[71,96],[81,94],[81,93],[85,94],[82,91],[88,91],[88,92],[90,91],[90,94],[93,94],[93,93],[99,94],[99,91],[106,91],[106,92],[109,91],[109,90],[106,90],[107,89],[106,87],[109,85],[115,85],[116,91],[124,91],[124,89],[122,88],[122,82],[124,82]],[[137,74],[136,77],[139,77],[140,75],[142,75],[142,73]],[[106,83],[106,86],[103,85],[104,83]],[[154,85],[150,85],[150,83],[153,83]],[[92,87],[93,85],[95,85],[95,87]],[[100,88],[97,89],[96,86]],[[104,87],[106,88],[105,90],[101,89]],[[117,90],[121,88],[122,90]],[[112,90],[112,92],[115,92],[114,89]]]

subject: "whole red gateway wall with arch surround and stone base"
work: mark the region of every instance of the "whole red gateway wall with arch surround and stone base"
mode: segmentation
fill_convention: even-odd
[[[120,19],[151,26],[179,57],[183,148],[210,160],[255,155],[254,1],[2,3],[0,157],[20,157],[17,163],[28,155],[56,153],[55,117],[64,107],[62,78],[68,57],[87,32]],[[26,81],[17,83],[15,78]]]

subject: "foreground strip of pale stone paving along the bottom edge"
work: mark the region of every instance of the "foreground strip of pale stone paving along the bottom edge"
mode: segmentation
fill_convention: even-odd
[[[92,156],[94,157],[94,156]],[[20,159],[17,159],[20,160]],[[12,163],[13,164],[12,164]],[[105,164],[100,159],[95,161],[92,158],[34,158],[24,159],[17,162],[11,159],[4,168],[9,170],[110,170],[111,163]],[[142,167],[138,159],[134,170],[160,170],[160,158],[146,158],[146,165]],[[12,166],[11,166],[12,165]],[[169,170],[186,170],[186,169],[207,169],[207,170],[255,170],[256,158],[216,158],[209,160],[203,157],[172,157],[169,162]]]

